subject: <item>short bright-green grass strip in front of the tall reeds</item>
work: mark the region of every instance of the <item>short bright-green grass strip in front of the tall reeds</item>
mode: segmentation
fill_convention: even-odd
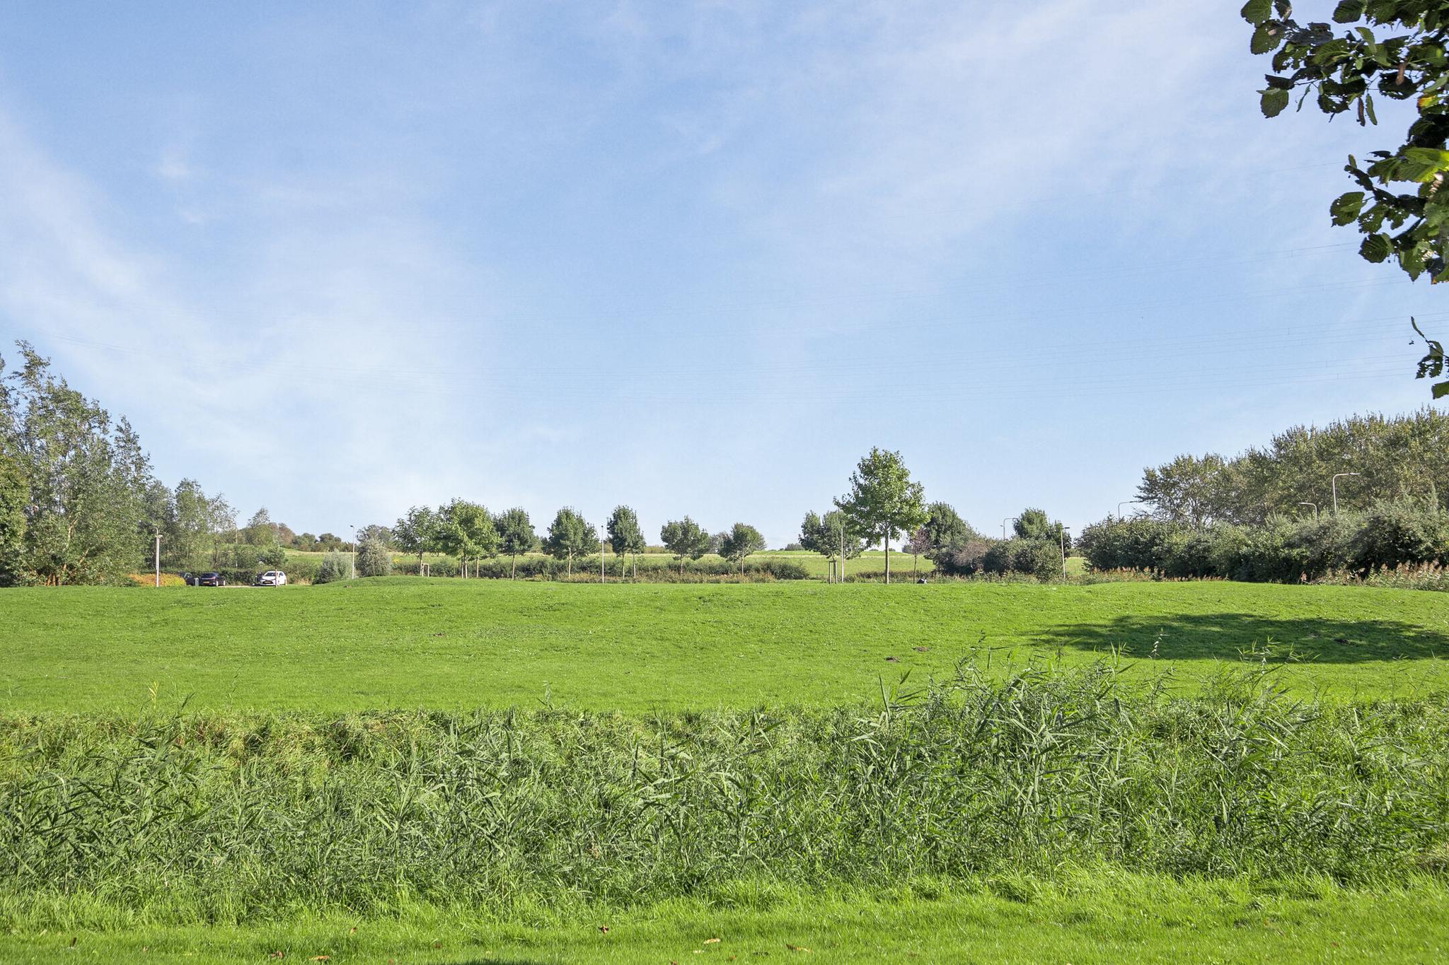
[[[0,935],[6,962],[1433,962],[1449,956],[1449,890],[1179,883],[1100,870],[1075,887],[1017,881],[923,898],[672,901],[500,922],[407,909],[242,927]],[[600,926],[607,926],[607,932]],[[719,939],[719,940],[711,940]],[[74,943],[72,943],[74,942]],[[326,958],[320,958],[326,956]]]

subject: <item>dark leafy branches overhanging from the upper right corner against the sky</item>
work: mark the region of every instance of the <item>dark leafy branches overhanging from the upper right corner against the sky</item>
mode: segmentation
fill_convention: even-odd
[[[1272,55],[1259,91],[1264,116],[1311,103],[1330,117],[1377,124],[1375,95],[1413,104],[1403,143],[1369,152],[1365,163],[1349,155],[1345,171],[1358,190],[1335,200],[1329,216],[1358,226],[1365,259],[1449,281],[1449,0],[1342,0],[1335,23],[1300,23],[1288,0],[1248,0],[1242,13],[1253,26],[1252,52]],[[1429,340],[1419,378],[1443,370],[1443,346]],[[1449,381],[1433,395],[1449,395]]]

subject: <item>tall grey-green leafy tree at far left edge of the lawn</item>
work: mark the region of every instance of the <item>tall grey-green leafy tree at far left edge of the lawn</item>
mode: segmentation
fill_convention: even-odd
[[[119,582],[148,543],[138,534],[148,516],[151,463],[125,418],[113,422],[28,343],[17,349],[20,367],[0,378],[0,453],[19,473],[7,501],[23,499],[25,527],[0,579]]]

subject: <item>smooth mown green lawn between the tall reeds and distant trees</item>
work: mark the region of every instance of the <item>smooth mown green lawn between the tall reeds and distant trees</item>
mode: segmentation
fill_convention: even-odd
[[[1449,681],[1449,599],[1248,583],[565,584],[393,577],[280,589],[0,592],[12,712],[858,703],[953,671],[1097,660],[1195,687],[1281,666],[1329,699]]]

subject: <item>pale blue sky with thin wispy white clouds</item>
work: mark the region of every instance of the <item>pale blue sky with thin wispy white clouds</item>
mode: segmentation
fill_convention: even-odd
[[[1449,328],[1326,213],[1403,119],[1261,119],[1236,7],[4,4],[0,352],[298,531],[778,545],[871,446],[1080,527],[1424,404],[1407,315]]]

